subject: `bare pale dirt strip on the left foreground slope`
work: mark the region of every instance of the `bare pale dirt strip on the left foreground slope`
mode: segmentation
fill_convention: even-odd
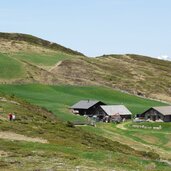
[[[27,142],[39,142],[48,143],[47,140],[41,138],[31,138],[25,135],[16,134],[13,132],[0,132],[0,139],[17,140],[17,141],[27,141]]]

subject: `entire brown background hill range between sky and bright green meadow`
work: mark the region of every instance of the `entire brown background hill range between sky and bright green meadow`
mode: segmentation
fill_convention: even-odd
[[[0,83],[101,85],[171,102],[171,62],[140,55],[88,58],[24,34],[0,34]]]

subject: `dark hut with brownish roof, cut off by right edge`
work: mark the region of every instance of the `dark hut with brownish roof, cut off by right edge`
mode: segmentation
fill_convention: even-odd
[[[145,120],[171,122],[171,106],[152,107],[140,115]]]

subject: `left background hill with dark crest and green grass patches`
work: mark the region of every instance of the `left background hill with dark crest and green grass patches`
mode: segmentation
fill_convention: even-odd
[[[31,35],[0,33],[0,83],[60,82],[51,68],[79,52]]]

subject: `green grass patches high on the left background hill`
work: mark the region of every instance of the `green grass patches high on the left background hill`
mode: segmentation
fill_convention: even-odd
[[[17,52],[0,53],[0,79],[9,80],[22,79],[28,72],[28,66],[46,68],[55,66],[58,62],[73,58],[72,55],[63,52]],[[32,70],[33,72],[33,70]],[[34,71],[36,72],[36,71]]]

